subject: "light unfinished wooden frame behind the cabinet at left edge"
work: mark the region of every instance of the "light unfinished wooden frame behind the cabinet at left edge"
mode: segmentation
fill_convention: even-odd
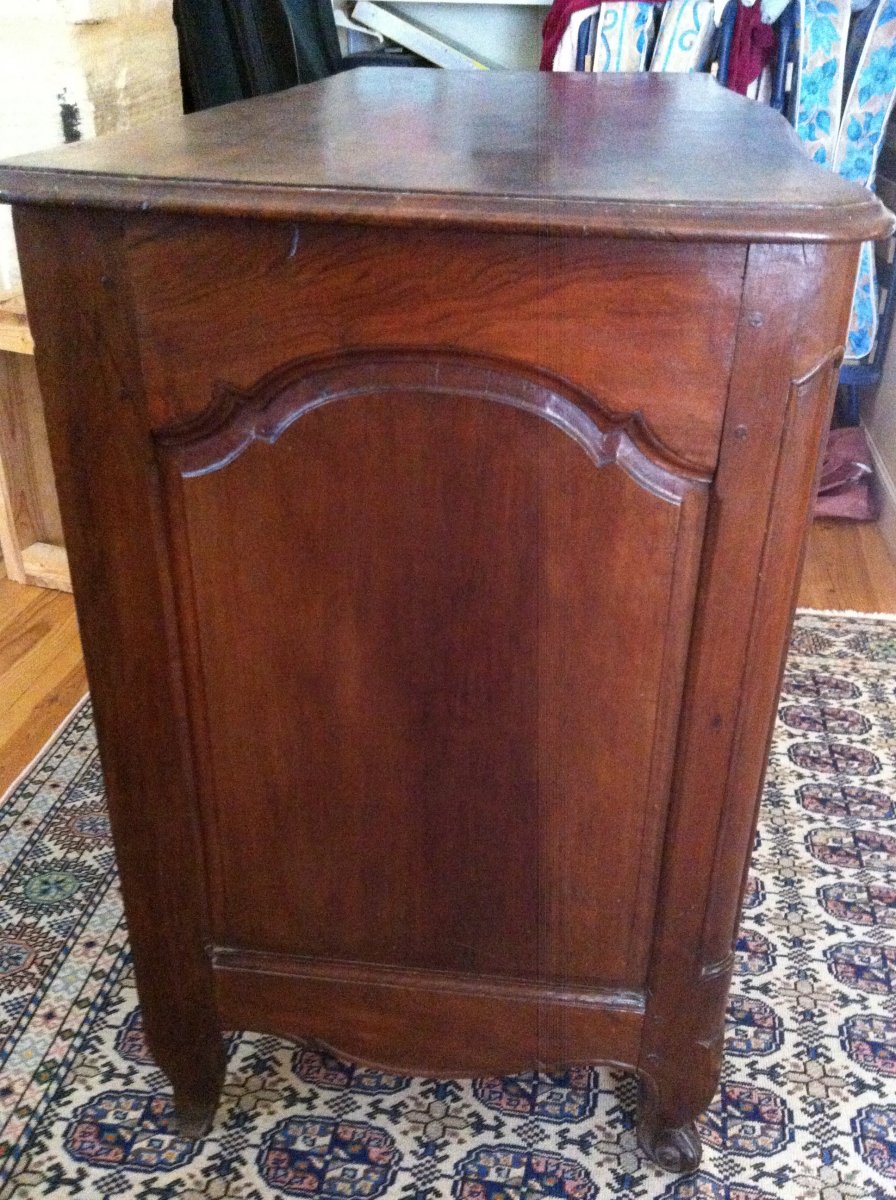
[[[20,293],[0,294],[0,551],[16,583],[72,590]]]

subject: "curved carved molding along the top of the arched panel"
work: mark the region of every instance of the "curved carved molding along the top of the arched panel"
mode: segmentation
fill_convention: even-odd
[[[639,413],[618,414],[594,397],[518,364],[444,350],[347,352],[299,359],[243,391],[217,384],[211,406],[155,434],[182,479],[221,470],[252,445],[272,445],[296,421],[344,400],[383,394],[469,397],[507,404],[555,425],[596,467],[617,463],[649,492],[679,504],[704,475],[680,463]]]

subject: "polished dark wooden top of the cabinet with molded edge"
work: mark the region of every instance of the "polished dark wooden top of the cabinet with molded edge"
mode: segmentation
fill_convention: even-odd
[[[368,67],[0,166],[0,200],[858,241],[892,218],[708,76]]]

